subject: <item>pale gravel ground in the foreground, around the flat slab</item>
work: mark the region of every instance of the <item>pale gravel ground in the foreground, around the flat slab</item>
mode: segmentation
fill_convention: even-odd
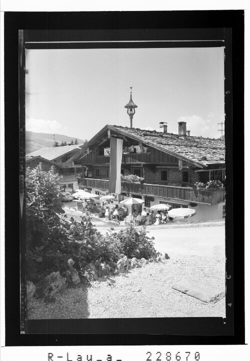
[[[225,298],[204,303],[171,285],[184,277],[224,289],[225,259],[170,255],[123,275],[68,288],[53,303],[27,302],[27,318],[225,317]]]

